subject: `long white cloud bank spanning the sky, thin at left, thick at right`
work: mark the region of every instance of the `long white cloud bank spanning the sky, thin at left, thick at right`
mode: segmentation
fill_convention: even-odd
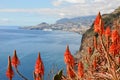
[[[110,13],[118,6],[120,0],[93,0],[91,3],[88,0],[55,0],[58,1],[56,5],[61,7],[54,8],[34,8],[34,9],[0,9],[0,13],[25,13],[34,14],[46,18],[63,18],[63,17],[77,17],[86,15],[96,15],[99,11]],[[62,2],[66,1],[70,5],[62,6]],[[72,4],[73,3],[73,4]],[[77,4],[76,4],[77,3]],[[55,4],[54,4],[55,5]]]

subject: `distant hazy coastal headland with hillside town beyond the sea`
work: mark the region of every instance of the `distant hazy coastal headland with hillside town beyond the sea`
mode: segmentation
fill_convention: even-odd
[[[84,16],[75,18],[62,18],[57,20],[55,24],[48,24],[42,22],[35,26],[22,27],[22,29],[36,29],[36,30],[62,30],[71,31],[77,33],[84,33],[88,28],[90,28],[91,22],[94,20],[95,16]]]

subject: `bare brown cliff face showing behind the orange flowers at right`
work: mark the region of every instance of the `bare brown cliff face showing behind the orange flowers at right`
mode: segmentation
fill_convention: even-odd
[[[102,15],[102,18],[105,24],[104,28],[107,26],[110,26],[112,28],[114,26],[114,21],[118,21],[118,23],[120,24],[120,7],[110,14]],[[93,46],[93,36],[97,36],[97,34],[93,31],[92,24],[91,28],[83,34],[80,49],[76,54],[76,58],[80,58],[83,54],[86,54],[88,46]]]

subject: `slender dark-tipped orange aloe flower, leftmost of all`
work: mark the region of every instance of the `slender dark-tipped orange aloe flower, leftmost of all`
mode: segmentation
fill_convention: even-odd
[[[13,76],[14,76],[14,72],[12,69],[12,65],[11,65],[11,58],[10,56],[8,57],[8,67],[7,67],[7,71],[6,71],[6,76],[12,80]]]

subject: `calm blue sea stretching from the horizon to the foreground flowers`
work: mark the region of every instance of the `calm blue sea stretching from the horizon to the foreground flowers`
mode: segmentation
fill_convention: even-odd
[[[5,72],[8,55],[17,50],[20,59],[18,69],[29,80],[33,80],[33,70],[38,52],[45,66],[45,80],[53,65],[65,68],[64,52],[69,44],[72,54],[80,47],[81,35],[63,31],[22,30],[16,27],[0,27],[0,80],[8,80]],[[13,80],[22,80],[16,73]]]

